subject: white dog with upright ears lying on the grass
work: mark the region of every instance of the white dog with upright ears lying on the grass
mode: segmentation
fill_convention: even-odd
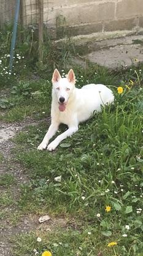
[[[47,147],[48,151],[53,151],[63,139],[78,130],[80,122],[88,120],[93,112],[99,112],[101,105],[110,104],[114,101],[114,94],[105,85],[91,84],[85,85],[81,89],[75,88],[75,75],[72,69],[69,70],[66,78],[61,78],[60,73],[55,69],[52,83],[52,123],[37,148],[39,150]],[[63,104],[60,104],[60,97],[64,97]],[[68,125],[68,130],[48,144],[58,130],[60,123]]]

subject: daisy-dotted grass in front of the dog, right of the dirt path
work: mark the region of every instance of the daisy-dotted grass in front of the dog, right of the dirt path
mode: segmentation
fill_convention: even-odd
[[[35,231],[16,237],[15,248],[19,244],[19,249],[14,250],[15,255],[21,251],[31,255],[34,248],[40,253],[51,250],[53,255],[98,255],[101,251],[102,255],[137,256],[142,252],[142,214],[137,209],[143,207],[143,97],[137,80],[133,88],[123,88],[119,95],[112,87],[115,104],[81,124],[79,131],[66,139],[65,148],[59,146],[53,153],[37,151],[46,122],[26,127],[14,139],[15,160],[31,177],[21,186],[20,211],[48,212],[80,223],[78,230]],[[60,133],[64,129],[61,126]],[[57,183],[55,177],[60,175]],[[110,212],[106,212],[106,205]],[[37,236],[42,244],[36,242]],[[108,248],[110,241],[118,245]]]

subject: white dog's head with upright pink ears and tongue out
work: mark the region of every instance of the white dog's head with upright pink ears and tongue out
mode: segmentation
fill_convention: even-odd
[[[69,97],[75,88],[75,75],[72,69],[69,70],[66,78],[61,78],[57,69],[53,72],[52,77],[53,91],[56,94],[59,104],[59,110],[64,111],[68,104]]]

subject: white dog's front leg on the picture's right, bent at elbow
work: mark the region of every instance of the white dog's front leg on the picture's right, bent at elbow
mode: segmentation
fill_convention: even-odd
[[[78,126],[72,126],[69,127],[68,130],[64,131],[64,133],[58,135],[56,137],[56,139],[54,139],[54,141],[52,141],[48,147],[47,150],[48,151],[54,151],[55,148],[58,146],[58,144],[63,141],[63,139],[66,139],[67,137],[71,136],[73,133],[75,133],[76,131],[78,131]]]

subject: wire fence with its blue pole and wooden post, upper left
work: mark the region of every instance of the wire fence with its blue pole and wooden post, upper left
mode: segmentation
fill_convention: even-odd
[[[53,2],[50,2],[50,4],[50,8],[52,9]],[[14,59],[17,24],[22,27],[27,25],[37,26],[39,39],[39,62],[42,63],[44,24],[47,25],[48,23],[48,7],[48,0],[0,0],[0,29],[6,29],[6,27],[4,27],[6,23],[12,24],[13,27],[10,47],[10,70],[12,70],[12,62]]]

